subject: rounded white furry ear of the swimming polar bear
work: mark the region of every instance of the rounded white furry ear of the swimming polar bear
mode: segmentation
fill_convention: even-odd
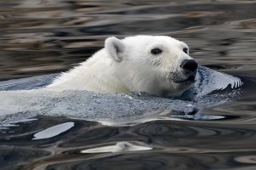
[[[117,61],[122,60],[121,53],[124,52],[125,44],[116,37],[108,37],[105,41],[105,48],[108,54]]]

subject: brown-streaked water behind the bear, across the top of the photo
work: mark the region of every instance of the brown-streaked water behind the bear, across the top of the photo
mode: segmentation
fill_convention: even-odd
[[[0,78],[67,71],[106,37],[137,34],[181,39],[201,65],[251,70],[254,9],[253,1],[2,1]]]

